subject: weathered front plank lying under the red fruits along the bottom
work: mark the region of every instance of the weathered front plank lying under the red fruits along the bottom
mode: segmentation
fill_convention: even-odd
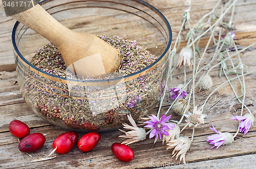
[[[217,127],[218,129],[218,127]],[[209,133],[212,131],[208,128]],[[121,133],[120,131],[112,131],[108,133],[102,133],[102,139],[96,148],[88,153],[83,153],[78,150],[78,147],[75,147],[72,151],[67,154],[57,155],[55,159],[49,161],[42,161],[36,163],[30,163],[30,160],[35,158],[44,157],[49,154],[52,150],[52,142],[56,135],[63,132],[53,126],[48,126],[44,128],[32,129],[31,132],[41,132],[45,134],[47,142],[46,144],[37,152],[31,153],[33,157],[29,157],[27,154],[21,153],[18,151],[18,141],[14,136],[11,136],[9,133],[2,133],[1,138],[12,137],[14,143],[6,144],[0,148],[0,166],[2,167],[20,167],[20,168],[34,168],[44,165],[44,168],[58,168],[60,165],[64,167],[101,167],[101,168],[150,168],[153,164],[157,163],[178,163],[171,157],[170,150],[166,151],[166,146],[162,146],[162,143],[159,141],[151,149],[153,145],[153,140],[146,139],[139,144],[133,144],[130,147],[135,152],[135,158],[129,163],[123,163],[116,159],[111,152],[111,145],[114,142],[121,142],[121,138],[117,136]],[[210,132],[211,131],[211,132]],[[79,133],[79,137],[83,133]],[[255,131],[250,133],[249,137],[243,137],[239,135],[239,139],[236,139],[232,144],[228,146],[222,146],[219,149],[209,148],[209,145],[206,142],[206,137],[208,135],[200,135],[194,138],[194,142],[191,143],[191,147],[186,154],[186,161],[197,162],[211,159],[227,158],[234,156],[241,156],[245,154],[254,154],[255,153]],[[245,146],[246,145],[246,146]],[[239,150],[239,151],[238,151]],[[204,156],[202,156],[202,153]],[[90,161],[91,160],[91,161]]]

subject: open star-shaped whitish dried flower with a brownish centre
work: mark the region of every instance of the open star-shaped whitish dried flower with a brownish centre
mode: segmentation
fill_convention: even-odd
[[[187,112],[187,114],[184,114],[184,116],[187,118],[185,121],[188,123],[188,126],[194,125],[197,127],[200,124],[204,124],[204,118],[206,118],[207,115],[202,114],[202,106],[197,109],[197,106],[195,106],[193,110],[193,114],[191,112]]]

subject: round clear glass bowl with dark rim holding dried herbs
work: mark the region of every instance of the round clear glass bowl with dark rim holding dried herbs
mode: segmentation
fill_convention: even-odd
[[[42,71],[30,64],[35,52],[49,43],[16,22],[12,32],[18,84],[27,104],[42,119],[70,130],[110,131],[136,121],[163,95],[169,69],[172,31],[163,14],[143,1],[43,1],[55,19],[77,32],[136,40],[158,59],[130,75],[108,80],[75,80]]]

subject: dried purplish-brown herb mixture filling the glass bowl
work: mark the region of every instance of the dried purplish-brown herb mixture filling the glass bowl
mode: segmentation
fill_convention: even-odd
[[[116,36],[99,38],[119,50],[121,65],[115,73],[106,77],[88,77],[85,80],[129,75],[157,60],[136,41]],[[31,64],[53,75],[77,79],[66,71],[61,54],[51,43],[37,51]],[[69,85],[31,73],[26,77],[22,92],[26,101],[35,107],[36,114],[50,123],[85,131],[113,130],[127,122],[127,114],[136,119],[156,105],[164,87],[162,71],[156,67],[143,76],[108,87]]]

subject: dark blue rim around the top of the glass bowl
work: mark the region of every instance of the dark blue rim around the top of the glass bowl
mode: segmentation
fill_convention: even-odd
[[[137,72],[134,72],[134,73],[131,73],[131,74],[129,74],[129,75],[125,75],[125,76],[121,76],[121,77],[117,77],[117,78],[112,78],[112,79],[102,79],[102,80],[83,80],[83,79],[71,79],[71,78],[67,78],[67,77],[60,77],[60,76],[57,76],[57,75],[53,75],[53,74],[50,74],[50,73],[47,73],[47,72],[45,72],[45,71],[43,71],[43,70],[41,70],[41,69],[39,69],[39,68],[37,68],[37,67],[35,67],[35,66],[33,66],[30,62],[28,62],[24,57],[23,57],[23,55],[19,52],[19,50],[18,50],[18,48],[17,48],[17,45],[16,45],[16,42],[15,42],[15,32],[16,32],[16,30],[17,30],[17,26],[19,25],[19,23],[20,22],[18,22],[18,21],[16,21],[15,22],[15,24],[14,24],[14,26],[13,26],[13,30],[12,30],[12,44],[13,44],[13,50],[14,50],[14,52],[16,53],[16,55],[18,55],[18,57],[23,61],[23,63],[25,63],[25,64],[27,64],[27,66],[26,67],[28,67],[31,71],[33,71],[33,72],[35,72],[35,73],[37,73],[37,74],[39,74],[39,75],[41,75],[41,76],[44,76],[44,75],[46,75],[47,76],[47,78],[49,78],[49,79],[52,79],[52,80],[56,80],[56,81],[59,81],[59,82],[64,82],[64,81],[69,81],[69,83],[71,82],[75,82],[75,83],[79,83],[79,82],[82,82],[82,83],[91,83],[91,84],[93,84],[93,83],[101,83],[101,82],[103,82],[103,83],[105,83],[105,82],[107,82],[107,83],[113,83],[114,81],[120,81],[120,80],[122,80],[122,79],[134,79],[134,78],[131,78],[131,77],[133,77],[133,76],[137,76],[137,77],[139,77],[139,76],[141,76],[140,74],[145,74],[145,72],[146,72],[146,70],[151,70],[151,68],[152,67],[156,67],[156,66],[158,66],[160,63],[161,63],[161,61],[166,57],[166,55],[168,54],[167,52],[170,52],[170,46],[171,46],[171,43],[172,43],[172,29],[171,29],[171,27],[170,27],[170,24],[169,24],[169,22],[168,22],[168,20],[165,18],[165,16],[157,9],[157,8],[155,8],[154,6],[152,6],[152,5],[150,5],[150,4],[148,4],[148,3],[146,3],[146,2],[144,2],[144,1],[141,1],[141,0],[131,0],[131,1],[134,1],[134,2],[137,2],[137,3],[139,3],[139,4],[142,4],[142,5],[144,5],[145,7],[147,7],[147,8],[150,8],[151,10],[153,10],[153,11],[155,11],[162,19],[163,19],[163,21],[164,21],[164,23],[166,24],[166,26],[167,26],[167,29],[168,29],[168,32],[166,32],[166,34],[167,34],[167,36],[169,36],[169,41],[168,41],[168,44],[167,44],[167,46],[166,46],[166,48],[165,48],[165,50],[164,50],[164,52],[161,54],[161,56],[154,62],[154,63],[152,63],[151,65],[149,65],[149,66],[147,66],[147,67],[145,67],[145,68],[143,68],[142,70],[139,70],[139,71],[137,71]],[[40,2],[40,3],[38,3],[39,5],[42,5],[42,4],[45,4],[45,3],[47,3],[47,2],[49,2],[49,0],[44,0],[44,1],[42,1],[42,2]],[[106,1],[104,1],[104,2],[106,2]],[[110,2],[110,1],[107,1],[107,2]],[[74,2],[72,2],[72,3],[74,3]],[[136,7],[133,7],[133,8],[136,8]],[[137,8],[136,8],[137,9]],[[168,33],[169,33],[169,35],[168,35]],[[144,72],[144,73],[143,73]],[[146,72],[147,73],[147,72]],[[126,80],[125,80],[126,81]],[[114,82],[115,83],[115,82]]]

